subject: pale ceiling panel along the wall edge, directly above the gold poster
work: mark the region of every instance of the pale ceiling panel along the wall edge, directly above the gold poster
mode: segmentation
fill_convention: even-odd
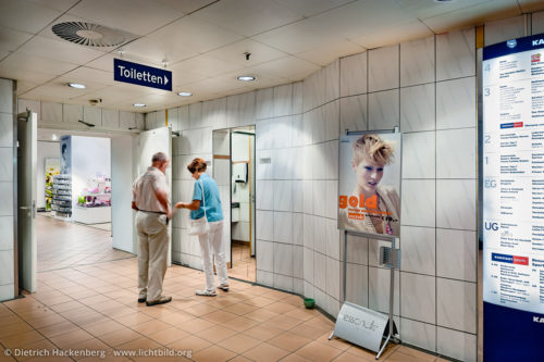
[[[393,26],[382,32],[367,34],[362,37],[350,40],[367,49],[373,49],[384,46],[392,46],[408,40],[430,37],[434,33],[431,32],[425,26],[425,24],[421,23],[420,21],[415,21],[408,24]]]

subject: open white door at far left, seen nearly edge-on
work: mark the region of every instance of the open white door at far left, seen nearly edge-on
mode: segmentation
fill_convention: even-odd
[[[36,176],[38,166],[36,113],[17,116],[17,270],[18,286],[37,289]]]

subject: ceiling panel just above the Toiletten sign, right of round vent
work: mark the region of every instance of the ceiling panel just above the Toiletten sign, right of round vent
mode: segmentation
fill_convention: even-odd
[[[242,39],[240,36],[191,16],[183,17],[158,32],[124,47],[127,57],[145,57],[150,62],[170,64],[206,53]]]

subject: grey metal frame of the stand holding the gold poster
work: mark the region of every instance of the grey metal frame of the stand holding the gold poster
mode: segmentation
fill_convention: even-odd
[[[398,127],[394,127],[393,129],[376,129],[376,130],[357,130],[357,132],[350,132],[346,129],[345,135],[363,135],[363,134],[380,134],[380,133],[399,133]],[[400,163],[400,174],[403,170],[403,164]],[[338,170],[339,172],[339,170]],[[401,184],[400,184],[401,185]],[[399,185],[399,186],[400,186]],[[399,194],[401,190],[399,189]],[[390,241],[391,242],[391,248],[393,250],[396,249],[396,237],[391,236],[391,235],[384,235],[384,234],[374,234],[374,233],[363,233],[363,232],[353,232],[353,230],[346,230],[342,229],[344,232],[344,258],[342,261],[342,267],[343,267],[343,303],[346,303],[346,289],[347,289],[347,283],[346,283],[346,276],[347,276],[347,236],[348,235],[354,235],[354,236],[360,236],[360,237],[367,237],[375,240],[383,240],[383,241]],[[400,254],[400,250],[398,250]],[[387,335],[385,336],[385,341],[381,346],[380,350],[378,351],[378,354],[375,359],[380,359],[382,355],[383,351],[385,350],[385,347],[387,347],[390,341],[393,341],[395,344],[400,342],[400,336],[399,334],[395,334],[395,322],[393,320],[393,303],[394,303],[394,295],[395,295],[395,269],[399,269],[399,265],[382,265],[384,267],[390,269],[391,274],[390,274],[390,305],[388,305],[388,323],[387,323]],[[336,322],[337,323],[337,322]],[[334,330],[331,333],[329,336],[329,340],[331,340],[334,337]],[[382,337],[383,338],[383,337]]]

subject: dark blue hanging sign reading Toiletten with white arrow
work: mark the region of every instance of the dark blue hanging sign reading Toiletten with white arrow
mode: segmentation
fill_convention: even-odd
[[[113,79],[172,91],[172,72],[121,59],[113,60]]]

